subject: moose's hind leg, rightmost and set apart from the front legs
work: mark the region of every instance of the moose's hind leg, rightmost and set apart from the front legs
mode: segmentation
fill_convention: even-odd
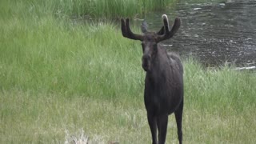
[[[178,129],[179,144],[182,144],[182,112],[183,112],[183,99],[180,105],[178,106],[178,109],[174,112],[176,123],[177,123],[177,129]]]

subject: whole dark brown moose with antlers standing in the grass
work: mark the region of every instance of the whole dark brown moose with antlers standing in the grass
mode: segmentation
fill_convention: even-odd
[[[141,28],[143,34],[134,34],[130,30],[129,18],[126,20],[122,18],[122,36],[142,42],[142,68],[146,71],[144,103],[152,143],[164,144],[166,142],[168,116],[174,113],[178,128],[178,141],[182,144],[184,93],[182,62],[177,54],[169,53],[158,45],[158,42],[174,36],[181,21],[175,18],[170,30],[166,14],[162,15],[162,20],[163,26],[158,32],[148,31],[146,21],[144,21]]]

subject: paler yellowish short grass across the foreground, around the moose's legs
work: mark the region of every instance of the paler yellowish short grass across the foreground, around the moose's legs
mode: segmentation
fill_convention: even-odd
[[[233,96],[223,96],[229,99],[226,105],[236,102]],[[18,90],[2,93],[1,99],[1,143],[64,143],[81,138],[82,130],[85,133],[82,138],[89,137],[96,143],[150,143],[142,95],[134,101],[110,101]],[[224,109],[226,105],[214,103],[223,102],[214,101],[199,109],[191,105],[200,106],[202,102],[194,101],[186,93],[184,143],[255,142],[254,105],[241,102],[244,103],[239,105],[244,106],[241,111],[238,106]],[[169,120],[167,142],[178,143],[173,115]]]

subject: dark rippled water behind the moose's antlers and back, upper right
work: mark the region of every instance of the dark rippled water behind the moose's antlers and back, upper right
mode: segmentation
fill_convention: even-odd
[[[170,22],[176,16],[182,19],[174,38],[162,42],[168,49],[186,58],[192,55],[207,66],[256,65],[256,0],[179,3],[176,10],[166,14]],[[162,13],[147,15],[149,30],[161,28],[161,16]]]

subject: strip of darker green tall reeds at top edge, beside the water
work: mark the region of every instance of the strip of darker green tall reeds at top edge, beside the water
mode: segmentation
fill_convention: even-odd
[[[90,15],[93,18],[132,17],[135,14],[146,14],[152,10],[164,10],[174,5],[177,0],[94,0],[54,2],[57,11],[62,14]]]

